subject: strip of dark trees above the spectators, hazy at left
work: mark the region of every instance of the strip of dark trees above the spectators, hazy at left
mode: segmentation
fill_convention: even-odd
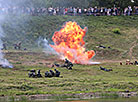
[[[138,0],[0,0],[0,3],[3,5],[10,4],[28,7],[113,7],[116,5],[125,8],[129,5],[138,6]]]

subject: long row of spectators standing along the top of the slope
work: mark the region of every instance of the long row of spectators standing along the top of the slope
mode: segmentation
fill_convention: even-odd
[[[39,15],[94,15],[94,16],[117,16],[117,15],[138,15],[138,7],[128,6],[125,9],[120,7],[89,7],[89,8],[79,8],[79,7],[0,7],[0,14],[29,14],[33,16]]]

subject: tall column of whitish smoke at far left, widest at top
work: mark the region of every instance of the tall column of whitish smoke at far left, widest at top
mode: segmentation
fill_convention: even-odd
[[[7,21],[8,24],[12,24],[9,25],[11,26],[11,28],[18,29],[14,18],[19,17],[19,14],[21,13],[16,12],[16,10],[14,9],[18,10],[19,7],[25,4],[23,2],[26,2],[26,0],[0,0],[0,66],[4,68],[13,68],[12,64],[10,64],[9,61],[4,58],[4,53],[2,52],[2,49],[4,48],[3,45],[5,45],[3,41],[7,42],[5,36],[13,37],[14,34],[6,35],[6,31],[4,31],[3,25],[5,25],[5,22]]]

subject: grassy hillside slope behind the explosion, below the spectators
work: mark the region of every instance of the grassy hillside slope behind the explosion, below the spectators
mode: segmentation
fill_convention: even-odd
[[[10,16],[3,24],[3,41],[9,49],[19,41],[23,47],[36,48],[39,37],[47,37],[51,43],[53,33],[67,21],[88,27],[84,40],[87,50],[96,51],[96,59],[138,58],[138,16]],[[111,49],[96,48],[98,45]]]

